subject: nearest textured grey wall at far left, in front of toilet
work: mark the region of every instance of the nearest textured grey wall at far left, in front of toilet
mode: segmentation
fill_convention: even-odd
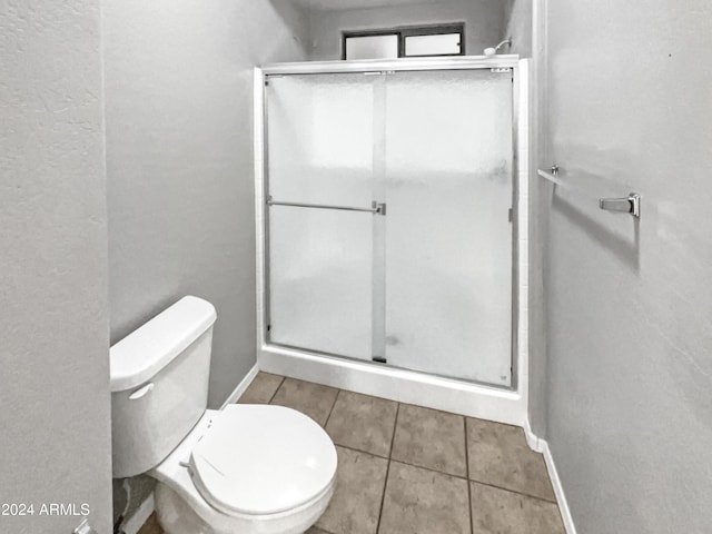
[[[98,2],[0,6],[0,532],[111,532]],[[79,508],[80,511],[80,508]]]

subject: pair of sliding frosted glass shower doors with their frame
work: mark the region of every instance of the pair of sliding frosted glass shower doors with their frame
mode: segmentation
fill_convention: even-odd
[[[258,70],[263,349],[516,387],[517,67]]]

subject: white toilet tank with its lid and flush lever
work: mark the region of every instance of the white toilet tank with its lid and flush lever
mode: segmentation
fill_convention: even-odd
[[[115,478],[156,467],[205,413],[216,317],[184,297],[111,347]]]

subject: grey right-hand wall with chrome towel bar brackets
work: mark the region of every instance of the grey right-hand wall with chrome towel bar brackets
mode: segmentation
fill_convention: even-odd
[[[578,533],[709,532],[712,4],[547,3],[550,446]]]

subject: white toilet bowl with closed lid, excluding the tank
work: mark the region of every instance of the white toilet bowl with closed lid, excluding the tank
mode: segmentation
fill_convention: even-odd
[[[326,510],[335,472],[332,441],[306,415],[230,405],[207,411],[148,474],[170,534],[301,534]]]

